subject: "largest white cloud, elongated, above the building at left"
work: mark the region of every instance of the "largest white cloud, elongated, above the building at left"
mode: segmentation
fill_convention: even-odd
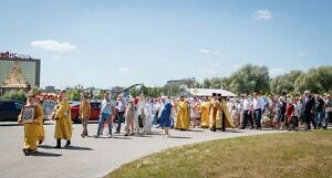
[[[32,41],[31,46],[40,48],[49,51],[69,51],[76,49],[76,45],[68,43],[68,42],[58,42],[54,40],[40,40],[40,41]]]

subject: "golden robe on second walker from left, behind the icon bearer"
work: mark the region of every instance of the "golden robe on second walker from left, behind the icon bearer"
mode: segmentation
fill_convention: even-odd
[[[72,137],[72,118],[68,100],[58,102],[53,116],[56,119],[54,138],[70,140]]]

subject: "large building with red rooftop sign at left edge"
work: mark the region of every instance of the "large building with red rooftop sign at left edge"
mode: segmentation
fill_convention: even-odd
[[[40,60],[17,53],[0,53],[0,91],[40,86]]]

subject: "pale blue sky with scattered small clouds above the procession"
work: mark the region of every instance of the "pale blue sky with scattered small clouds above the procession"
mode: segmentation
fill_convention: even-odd
[[[332,0],[4,0],[0,51],[41,59],[42,86],[276,76],[332,64],[331,19]]]

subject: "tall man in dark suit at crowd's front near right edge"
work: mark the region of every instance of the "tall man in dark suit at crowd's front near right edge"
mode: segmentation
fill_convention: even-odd
[[[317,124],[314,122],[314,98],[311,96],[309,91],[305,91],[303,93],[303,98],[302,98],[302,114],[304,117],[304,121],[307,123],[307,128],[311,129],[310,124],[312,123],[314,129],[317,128]],[[311,122],[311,123],[310,123]]]

